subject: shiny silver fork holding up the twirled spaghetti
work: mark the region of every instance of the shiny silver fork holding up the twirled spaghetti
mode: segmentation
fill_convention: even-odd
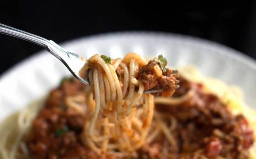
[[[68,68],[68,70],[72,73],[72,75],[77,80],[81,81],[86,85],[89,85],[88,76],[82,77],[79,74],[79,71],[83,68],[83,66],[86,63],[81,59],[79,55],[66,51],[65,49],[60,47],[58,44],[53,42],[52,40],[47,40],[37,35],[31,34],[31,33],[28,33],[28,32],[25,32],[1,23],[0,23],[0,33],[13,36],[16,38],[20,38],[46,48],[48,52],[50,52],[53,56],[58,58]],[[160,91],[163,91],[163,90],[151,89],[151,90],[145,91],[145,93],[155,93]]]

